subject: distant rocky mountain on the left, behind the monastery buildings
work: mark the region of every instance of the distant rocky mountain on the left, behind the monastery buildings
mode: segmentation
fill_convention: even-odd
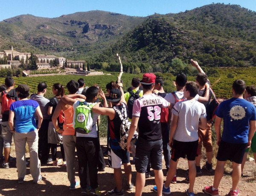
[[[72,50],[70,48],[80,52],[98,50],[144,20],[144,17],[98,10],[57,18],[20,15],[0,22],[0,50],[10,46],[20,52],[32,50],[34,53],[66,52]]]

